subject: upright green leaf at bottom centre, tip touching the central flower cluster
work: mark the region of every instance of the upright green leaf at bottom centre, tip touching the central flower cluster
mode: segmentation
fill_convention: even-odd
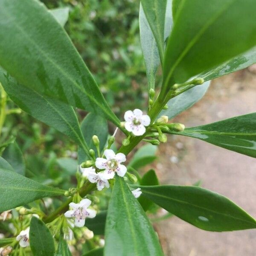
[[[159,241],[139,202],[124,179],[116,177],[109,202],[105,255],[163,255]]]

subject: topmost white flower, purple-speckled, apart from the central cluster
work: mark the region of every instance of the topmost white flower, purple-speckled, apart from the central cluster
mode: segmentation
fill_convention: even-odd
[[[125,112],[125,129],[131,131],[135,136],[143,135],[146,131],[145,126],[150,125],[150,117],[143,115],[140,109]]]

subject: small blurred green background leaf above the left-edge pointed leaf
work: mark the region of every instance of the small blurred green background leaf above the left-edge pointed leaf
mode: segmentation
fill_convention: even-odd
[[[25,160],[16,142],[9,144],[7,148],[5,148],[2,157],[12,166],[15,172],[20,175],[25,175]]]

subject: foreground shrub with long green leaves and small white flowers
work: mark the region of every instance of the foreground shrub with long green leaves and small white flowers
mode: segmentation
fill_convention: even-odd
[[[38,0],[0,0],[0,128],[7,114],[23,110],[79,147],[75,172],[66,174],[76,177],[74,187],[52,173],[43,182],[41,173],[30,177],[14,139],[1,144],[1,255],[161,256],[147,216],[160,207],[203,230],[256,228],[255,219],[223,195],[196,184],[159,185],[154,170],[138,172],[168,134],[256,157],[256,113],[192,128],[169,122],[204,96],[210,80],[256,62],[254,1],[141,0],[148,111],[127,110],[122,120],[64,31],[67,15]],[[8,97],[19,109],[7,112]],[[76,108],[90,112],[81,125]],[[106,120],[116,127],[113,135]],[[127,161],[141,141],[147,145]]]

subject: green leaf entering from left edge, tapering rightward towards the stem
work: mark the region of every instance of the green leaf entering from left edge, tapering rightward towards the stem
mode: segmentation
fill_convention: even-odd
[[[64,195],[64,192],[62,189],[41,185],[16,172],[0,168],[0,212],[39,198]]]

